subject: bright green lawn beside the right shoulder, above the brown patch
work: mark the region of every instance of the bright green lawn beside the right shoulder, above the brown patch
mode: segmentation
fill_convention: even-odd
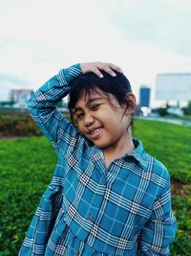
[[[191,127],[136,120],[134,137],[168,168],[173,179],[191,182]]]

